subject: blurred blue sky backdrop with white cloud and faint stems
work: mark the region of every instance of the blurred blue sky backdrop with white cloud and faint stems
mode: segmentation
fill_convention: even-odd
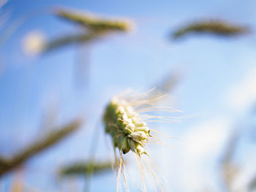
[[[255,191],[255,1],[0,4],[1,156],[11,157],[56,126],[83,120],[78,131],[1,176],[0,191],[84,191],[86,185],[90,191],[116,191],[116,173],[111,170],[87,183],[83,175],[61,177],[59,170],[92,155],[97,161],[113,158],[102,123],[108,101],[127,89],[145,92],[165,82],[171,85],[162,104],[183,111],[168,114],[178,117],[173,123],[148,124],[176,137],[162,137],[172,149],[148,146],[167,179],[165,191]],[[127,18],[132,30],[45,54],[29,52],[31,36],[56,39],[83,30],[53,15],[56,7]],[[251,33],[171,38],[178,27],[201,18],[245,25]],[[138,177],[131,158],[128,177]],[[129,178],[131,191],[140,191]]]

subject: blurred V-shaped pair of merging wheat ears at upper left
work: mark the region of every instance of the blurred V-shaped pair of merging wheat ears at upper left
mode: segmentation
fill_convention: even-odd
[[[105,37],[107,34],[127,32],[132,28],[132,23],[129,20],[102,18],[78,10],[57,8],[54,9],[53,15],[67,20],[70,23],[82,26],[83,31],[76,34],[67,34],[66,36],[56,37],[56,39],[44,42],[41,53],[48,53],[67,45],[91,43]]]

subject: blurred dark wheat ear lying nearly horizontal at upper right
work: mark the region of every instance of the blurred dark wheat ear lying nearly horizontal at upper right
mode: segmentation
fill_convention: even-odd
[[[173,39],[180,39],[187,34],[214,34],[222,37],[237,37],[249,34],[250,28],[224,20],[199,20],[194,23],[187,23],[174,31],[171,36]]]

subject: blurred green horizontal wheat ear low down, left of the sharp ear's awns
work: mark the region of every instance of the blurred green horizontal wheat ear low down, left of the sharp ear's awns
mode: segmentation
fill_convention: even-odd
[[[61,169],[61,176],[69,175],[91,175],[91,174],[100,174],[102,172],[108,172],[112,169],[113,162],[77,162],[75,164],[66,166]]]

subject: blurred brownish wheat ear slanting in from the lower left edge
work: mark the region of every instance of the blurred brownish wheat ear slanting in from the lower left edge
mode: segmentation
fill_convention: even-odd
[[[29,147],[26,147],[23,151],[17,153],[12,158],[0,157],[0,177],[10,172],[12,169],[17,168],[20,164],[23,164],[29,158],[37,155],[37,153],[48,149],[49,147],[60,142],[65,137],[69,136],[73,131],[77,130],[81,125],[81,120],[74,120],[71,123],[52,131],[42,139],[38,139],[36,142],[31,143]]]

